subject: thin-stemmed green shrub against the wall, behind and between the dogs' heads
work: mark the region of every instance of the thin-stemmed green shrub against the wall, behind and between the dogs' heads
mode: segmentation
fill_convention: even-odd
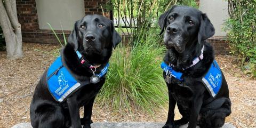
[[[130,42],[133,42],[145,23],[148,27],[143,29],[148,29],[153,25],[152,20],[157,21],[151,15],[159,16],[175,4],[197,7],[195,0],[111,0],[108,10],[114,11],[115,23],[127,29],[125,32],[121,29],[122,34],[131,35]]]

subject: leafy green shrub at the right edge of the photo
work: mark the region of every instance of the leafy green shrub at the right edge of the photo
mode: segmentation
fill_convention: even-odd
[[[241,65],[251,66],[256,72],[256,1],[228,0],[229,15],[225,23],[231,52],[238,56]],[[254,74],[256,77],[256,75]]]

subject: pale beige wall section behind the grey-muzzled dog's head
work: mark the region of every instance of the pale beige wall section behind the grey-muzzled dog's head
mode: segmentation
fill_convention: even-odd
[[[199,10],[206,13],[215,28],[215,36],[226,36],[222,30],[228,16],[228,2],[223,0],[200,0]]]

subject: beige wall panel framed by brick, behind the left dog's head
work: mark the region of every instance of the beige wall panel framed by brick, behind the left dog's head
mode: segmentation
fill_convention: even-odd
[[[84,17],[84,0],[36,0],[40,29],[73,30],[75,21]],[[61,22],[61,23],[60,23]]]

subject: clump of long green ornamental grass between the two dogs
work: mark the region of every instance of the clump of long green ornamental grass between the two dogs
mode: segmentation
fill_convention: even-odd
[[[165,48],[160,43],[153,28],[135,38],[133,46],[119,46],[110,59],[107,81],[97,101],[118,111],[149,113],[166,105],[167,87],[159,67]]]

